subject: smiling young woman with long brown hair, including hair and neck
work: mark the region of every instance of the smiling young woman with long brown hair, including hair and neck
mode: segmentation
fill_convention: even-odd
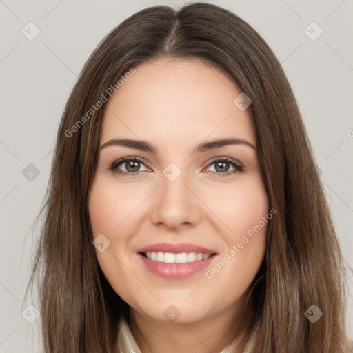
[[[112,30],[57,135],[45,352],[348,352],[342,257],[279,61],[232,12]]]

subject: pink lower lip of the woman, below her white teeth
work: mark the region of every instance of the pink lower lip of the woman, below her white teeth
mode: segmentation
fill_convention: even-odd
[[[216,255],[212,255],[205,260],[187,263],[164,263],[152,261],[142,254],[139,254],[139,257],[145,264],[146,268],[158,276],[165,279],[185,279],[186,277],[192,276],[192,274],[207,268]]]

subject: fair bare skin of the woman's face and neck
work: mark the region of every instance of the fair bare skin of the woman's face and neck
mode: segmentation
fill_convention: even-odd
[[[233,103],[241,90],[210,65],[158,59],[135,68],[106,103],[100,146],[114,138],[142,139],[156,146],[157,154],[118,145],[100,151],[90,221],[93,238],[104,234],[110,246],[96,250],[97,259],[112,288],[130,305],[130,328],[141,352],[220,352],[234,339],[236,332],[225,335],[226,328],[259,271],[267,223],[212,279],[205,271],[268,214],[268,195],[256,150],[242,144],[192,150],[205,140],[231,137],[256,147],[254,125],[249,109],[241,111]],[[109,169],[130,156],[145,161],[137,161],[137,177]],[[234,159],[245,170],[224,176],[216,170],[215,157]],[[181,171],[175,181],[163,174],[170,163]],[[119,170],[128,167],[121,163]],[[232,164],[224,168],[234,170]],[[163,279],[137,255],[139,248],[160,242],[194,243],[218,255],[186,279]],[[180,312],[175,322],[163,314],[170,305]]]

